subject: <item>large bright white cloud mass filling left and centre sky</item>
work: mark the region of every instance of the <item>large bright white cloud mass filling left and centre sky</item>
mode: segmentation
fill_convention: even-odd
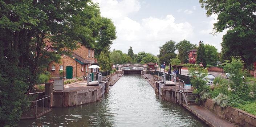
[[[140,9],[137,0],[98,0],[98,3],[102,16],[113,19],[117,28],[117,39],[111,45],[112,50],[119,49],[127,53],[132,46],[134,53],[145,51],[157,55],[159,46],[166,41],[179,42],[194,33],[190,23],[176,23],[172,15],[147,17],[137,21],[131,19],[129,15]]]

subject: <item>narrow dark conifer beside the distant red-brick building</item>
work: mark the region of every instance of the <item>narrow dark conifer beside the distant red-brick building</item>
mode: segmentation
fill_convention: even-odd
[[[205,49],[204,49],[204,44],[201,41],[199,42],[199,47],[196,52],[196,63],[200,64],[200,62],[203,62],[203,65],[206,66]]]

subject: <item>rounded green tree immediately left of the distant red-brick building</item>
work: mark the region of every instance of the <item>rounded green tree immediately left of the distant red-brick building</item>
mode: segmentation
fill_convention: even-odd
[[[176,48],[179,50],[179,60],[182,62],[182,64],[187,63],[188,52],[193,48],[192,44],[187,40],[183,40],[176,45]]]

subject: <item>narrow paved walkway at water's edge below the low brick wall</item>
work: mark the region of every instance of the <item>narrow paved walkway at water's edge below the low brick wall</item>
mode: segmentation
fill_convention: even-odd
[[[235,124],[220,118],[218,115],[214,114],[210,110],[207,110],[198,105],[190,105],[187,106],[193,114],[198,116],[198,118],[202,119],[209,126],[213,127],[237,127]]]

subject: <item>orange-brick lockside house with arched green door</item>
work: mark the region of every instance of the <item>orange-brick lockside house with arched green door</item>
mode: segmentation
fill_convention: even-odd
[[[88,49],[78,43],[79,48],[72,51],[66,51],[70,55],[62,54],[60,63],[50,62],[47,71],[51,73],[52,77],[62,77],[60,71],[63,70],[63,77],[82,78],[86,77],[88,73],[96,72],[96,69],[89,69],[90,65],[97,64],[97,59],[94,58],[94,49]],[[47,48],[47,46],[46,46]],[[52,47],[48,52],[55,52],[57,48]]]

